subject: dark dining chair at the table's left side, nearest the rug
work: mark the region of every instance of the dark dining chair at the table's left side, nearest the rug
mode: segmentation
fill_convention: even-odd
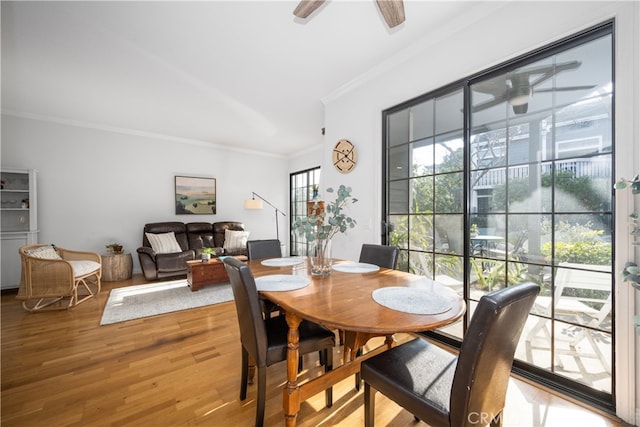
[[[287,359],[287,334],[289,326],[285,316],[264,318],[260,308],[260,299],[253,274],[242,261],[225,258],[224,265],[231,281],[233,297],[240,326],[242,343],[242,378],[240,383],[240,400],[247,397],[249,381],[249,358],[255,363],[258,371],[258,407],[256,409],[256,426],[264,423],[264,408],[267,388],[267,367]],[[316,351],[322,352],[321,363],[325,372],[333,369],[333,347],[335,335],[324,326],[303,320],[298,327],[300,354]],[[333,389],[325,391],[326,406],[333,404]]]

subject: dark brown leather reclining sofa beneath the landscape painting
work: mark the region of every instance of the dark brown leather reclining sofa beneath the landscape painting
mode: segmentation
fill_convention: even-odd
[[[244,224],[236,221],[222,222],[154,222],[145,224],[142,246],[138,248],[138,259],[147,280],[186,277],[186,261],[200,258],[203,248],[214,248],[216,255],[246,255],[246,247],[229,251],[224,249],[225,230],[244,231]],[[157,254],[149,243],[146,233],[163,234],[173,232],[182,252]]]

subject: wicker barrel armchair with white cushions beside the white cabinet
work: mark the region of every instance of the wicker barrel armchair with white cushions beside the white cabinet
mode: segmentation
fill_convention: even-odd
[[[25,310],[69,309],[100,292],[102,259],[97,253],[53,245],[26,245],[18,251],[22,275],[16,299]]]

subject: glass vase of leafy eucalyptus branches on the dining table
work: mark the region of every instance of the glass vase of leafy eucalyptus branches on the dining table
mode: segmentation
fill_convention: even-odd
[[[331,194],[334,189],[327,188],[325,191]],[[347,215],[346,208],[357,201],[351,196],[351,187],[340,185],[334,201],[309,202],[307,216],[299,217],[293,223],[293,230],[304,236],[310,244],[312,276],[331,274],[331,239],[356,226],[356,221]]]

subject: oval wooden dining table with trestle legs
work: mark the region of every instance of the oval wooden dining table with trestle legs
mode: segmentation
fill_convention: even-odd
[[[335,263],[346,265],[348,262]],[[365,273],[333,270],[328,276],[313,277],[306,258],[295,265],[286,266],[266,266],[261,260],[248,261],[247,264],[256,282],[269,275],[302,276],[309,282],[296,290],[260,291],[262,298],[274,302],[285,311],[289,326],[287,383],[283,390],[287,426],[296,425],[301,402],[358,373],[363,360],[392,347],[393,334],[421,332],[451,324],[460,319],[466,309],[462,297],[446,286],[424,276],[399,270],[380,268]],[[376,302],[372,296],[376,289],[387,287],[393,287],[393,290],[408,287],[424,290],[426,293],[432,292],[430,295],[446,299],[450,308],[436,314],[415,314],[388,308]],[[298,384],[298,326],[302,320],[344,331],[344,354],[341,366]],[[374,337],[386,337],[385,344],[360,355],[358,349]]]

